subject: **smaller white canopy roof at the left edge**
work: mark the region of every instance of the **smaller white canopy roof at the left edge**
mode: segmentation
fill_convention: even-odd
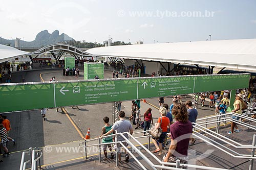
[[[17,50],[14,47],[0,44],[0,63],[5,61],[14,60],[19,56],[29,54],[28,52]]]

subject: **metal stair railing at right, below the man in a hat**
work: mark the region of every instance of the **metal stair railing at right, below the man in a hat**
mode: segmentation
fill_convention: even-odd
[[[251,118],[250,116],[252,114],[256,114],[256,111],[252,111],[256,108],[249,108],[246,110],[243,110],[243,114],[237,114],[237,113],[225,113],[225,114],[221,114],[221,115],[215,115],[215,116],[210,116],[210,117],[204,117],[204,118],[200,118],[197,120],[197,123],[193,123],[193,127],[195,128],[194,131],[194,136],[196,136],[199,139],[202,139],[204,142],[212,145],[213,147],[223,151],[224,153],[232,156],[233,158],[243,158],[243,159],[249,159],[250,160],[250,164],[249,164],[249,170],[252,170],[253,167],[253,160],[256,159],[256,157],[254,156],[254,152],[256,149],[256,135],[253,135],[252,138],[252,144],[241,144],[237,141],[234,141],[224,135],[219,134],[219,130],[220,130],[220,123],[225,123],[227,121],[236,123],[238,125],[242,125],[244,127],[247,127],[248,129],[252,129],[254,131],[256,131],[256,126],[251,125],[250,123],[256,123],[256,120]],[[241,120],[236,120],[231,118],[232,116],[238,116],[240,117]],[[210,119],[210,120],[209,120]],[[244,120],[247,120],[248,123],[243,122]],[[212,131],[210,129],[207,129],[207,125],[209,124],[216,124],[215,127],[215,131]],[[199,132],[203,132],[204,134],[207,134],[211,137],[217,138],[218,140],[224,142],[225,144],[228,144],[229,146],[235,148],[235,149],[245,149],[245,151],[248,151],[246,149],[250,149],[250,154],[240,154],[239,152],[237,152],[238,150],[232,150],[228,147],[226,147],[224,144],[219,143],[215,140],[210,139],[209,137],[207,137],[206,135],[199,133]]]

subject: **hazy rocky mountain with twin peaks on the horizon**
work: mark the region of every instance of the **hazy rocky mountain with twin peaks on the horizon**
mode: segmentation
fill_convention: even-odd
[[[55,44],[59,42],[65,42],[65,41],[74,41],[73,38],[69,37],[67,34],[60,34],[59,31],[55,30],[52,34],[48,32],[48,30],[44,30],[39,32],[34,41],[23,41],[20,40],[20,46],[22,47],[43,47],[50,44]],[[10,44],[11,46],[15,46],[15,40],[14,39],[4,39],[0,37],[0,44]]]

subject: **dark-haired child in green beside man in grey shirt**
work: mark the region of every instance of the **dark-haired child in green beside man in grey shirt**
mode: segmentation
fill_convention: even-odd
[[[104,135],[106,132],[109,132],[109,131],[111,130],[112,125],[109,124],[109,120],[110,120],[110,118],[107,117],[107,116],[105,116],[105,117],[103,118],[103,121],[104,121],[105,126],[102,127],[101,136]],[[113,133],[115,133],[115,132],[113,132]],[[113,133],[111,133],[111,134],[113,134]],[[111,134],[110,134],[110,135],[111,135]],[[108,144],[108,142],[113,142],[113,140],[115,140],[115,137],[114,137],[114,136],[105,137],[105,138],[102,139],[102,143],[106,143],[106,144],[102,145],[102,150],[103,150],[103,152],[104,152],[105,158],[108,158],[108,156],[106,155],[106,154],[107,154],[107,153],[106,153],[106,147],[109,147],[109,150],[110,150],[110,152],[111,152],[111,153],[110,153],[111,159],[114,158],[114,153],[112,152],[112,145],[111,145],[111,144]]]

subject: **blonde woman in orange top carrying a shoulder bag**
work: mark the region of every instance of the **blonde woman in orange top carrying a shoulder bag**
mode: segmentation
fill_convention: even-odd
[[[170,120],[168,117],[166,117],[167,110],[165,108],[160,108],[159,112],[160,112],[161,117],[158,118],[158,121],[155,124],[156,129],[159,129],[159,128],[162,129],[162,134],[160,135],[160,137],[158,139],[159,145],[157,144],[157,141],[155,138],[152,138],[152,139],[153,139],[153,143],[155,144],[155,147],[156,147],[156,150],[154,151],[154,153],[159,152],[158,155],[161,155],[162,151],[163,151],[163,141],[167,134],[167,127],[170,127]]]

